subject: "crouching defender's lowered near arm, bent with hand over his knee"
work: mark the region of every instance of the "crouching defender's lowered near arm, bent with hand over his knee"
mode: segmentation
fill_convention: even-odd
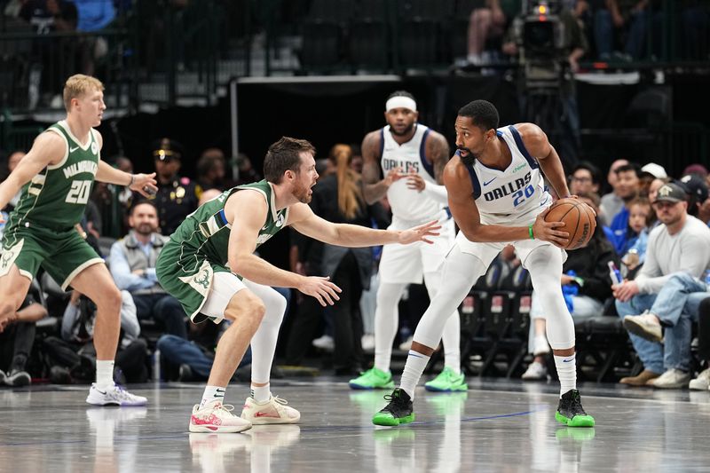
[[[254,255],[259,230],[269,211],[264,196],[254,191],[233,193],[225,204],[225,217],[232,222],[229,234],[228,264],[233,272],[244,278],[279,288],[296,288],[307,296],[318,299],[320,305],[333,305],[339,300],[341,289],[329,278],[302,276],[277,268]]]

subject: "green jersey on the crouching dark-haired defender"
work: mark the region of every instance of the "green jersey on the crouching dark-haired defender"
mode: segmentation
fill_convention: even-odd
[[[229,248],[229,233],[232,225],[227,223],[225,217],[225,202],[233,193],[243,189],[254,189],[264,195],[269,211],[266,214],[264,226],[259,230],[256,239],[256,248],[269,240],[274,234],[285,227],[288,219],[288,208],[275,209],[276,196],[273,194],[272,185],[266,180],[254,182],[246,185],[239,185],[219,194],[211,201],[207,201],[188,215],[175,233],[170,236],[170,240],[201,256],[207,256],[211,262],[226,265],[228,260],[227,248]],[[184,249],[185,251],[185,249]],[[195,256],[193,268],[183,268],[186,272],[197,271],[202,263],[198,256]]]

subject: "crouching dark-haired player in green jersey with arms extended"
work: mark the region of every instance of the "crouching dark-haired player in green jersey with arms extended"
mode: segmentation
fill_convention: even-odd
[[[335,304],[341,289],[328,278],[280,270],[254,250],[287,226],[315,240],[345,247],[414,243],[438,235],[436,221],[409,230],[373,230],[333,224],[307,205],[318,173],[315,148],[281,138],[264,158],[264,180],[233,187],[206,202],[177,227],[155,272],[194,322],[232,322],[217,344],[208,386],[193,407],[191,432],[239,432],[252,424],[298,422],[301,414],[269,389],[273,353],[286,300],[271,286],[296,288],[322,305]],[[241,418],[225,408],[225,390],[251,343],[251,396]]]

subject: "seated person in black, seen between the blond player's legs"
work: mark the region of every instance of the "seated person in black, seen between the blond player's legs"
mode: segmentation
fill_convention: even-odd
[[[0,385],[27,386],[32,382],[27,362],[35,343],[35,324],[46,316],[47,309],[30,290],[11,325],[0,334]]]

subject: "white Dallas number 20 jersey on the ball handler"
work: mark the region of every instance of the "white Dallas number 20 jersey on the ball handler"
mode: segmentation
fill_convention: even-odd
[[[545,190],[540,165],[528,153],[523,138],[513,125],[499,128],[496,133],[510,149],[513,159],[508,169],[487,168],[477,160],[473,166],[467,166],[481,223],[532,222],[552,203]]]

